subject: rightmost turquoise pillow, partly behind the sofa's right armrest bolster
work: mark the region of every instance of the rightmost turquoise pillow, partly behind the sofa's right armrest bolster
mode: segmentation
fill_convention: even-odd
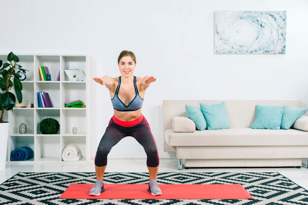
[[[307,112],[306,108],[297,108],[286,106],[282,114],[281,129],[288,129]]]

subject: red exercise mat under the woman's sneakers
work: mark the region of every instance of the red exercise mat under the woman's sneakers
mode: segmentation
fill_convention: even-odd
[[[104,192],[90,196],[93,185],[72,183],[60,199],[253,199],[241,184],[158,184],[159,196],[148,184],[104,184]]]

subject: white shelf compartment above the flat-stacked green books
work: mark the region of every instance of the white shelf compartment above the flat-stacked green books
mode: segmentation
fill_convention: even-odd
[[[81,100],[87,105],[86,84],[85,83],[61,83],[62,99],[61,107],[64,108],[65,102]]]

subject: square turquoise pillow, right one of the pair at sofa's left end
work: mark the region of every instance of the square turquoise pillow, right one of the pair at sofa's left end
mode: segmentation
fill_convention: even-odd
[[[200,103],[200,108],[208,129],[230,128],[227,107],[224,102],[218,104]]]

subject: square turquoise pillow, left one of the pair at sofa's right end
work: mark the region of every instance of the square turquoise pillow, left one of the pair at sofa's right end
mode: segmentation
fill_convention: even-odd
[[[253,129],[280,129],[281,118],[285,105],[256,105],[255,120],[250,128]]]

